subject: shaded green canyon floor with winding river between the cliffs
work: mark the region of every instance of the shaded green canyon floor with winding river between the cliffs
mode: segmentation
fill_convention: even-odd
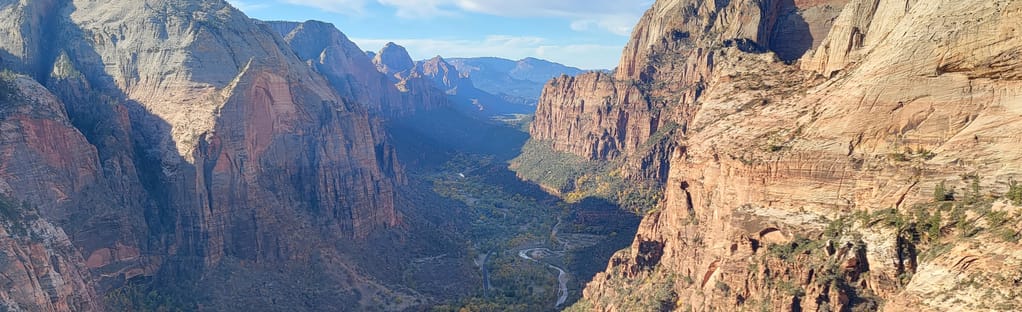
[[[480,269],[476,295],[436,310],[553,311],[569,306],[610,256],[629,246],[639,216],[605,198],[566,202],[509,168],[527,134],[521,117],[490,121],[454,109],[390,125],[415,184],[469,220],[468,255]],[[469,131],[463,131],[467,127]],[[428,260],[426,260],[428,261]]]

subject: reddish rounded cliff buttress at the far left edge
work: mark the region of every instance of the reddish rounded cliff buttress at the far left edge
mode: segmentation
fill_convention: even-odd
[[[67,120],[62,103],[26,77],[0,81],[0,309],[96,311],[101,307],[85,260],[64,231],[41,219],[17,195],[61,211],[96,183],[96,149]],[[9,80],[8,80],[9,79]]]

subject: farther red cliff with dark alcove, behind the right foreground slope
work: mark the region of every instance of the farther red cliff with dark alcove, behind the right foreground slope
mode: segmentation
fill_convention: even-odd
[[[640,146],[657,131],[670,124],[688,130],[722,60],[775,46],[797,58],[822,41],[844,2],[657,1],[636,26],[614,75],[564,77],[547,86],[530,133],[591,160],[648,159]]]

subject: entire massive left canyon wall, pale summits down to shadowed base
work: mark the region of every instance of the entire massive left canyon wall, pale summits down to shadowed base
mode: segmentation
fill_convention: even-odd
[[[67,232],[101,293],[334,263],[313,285],[392,309],[421,299],[374,281],[413,255],[352,251],[419,242],[401,234],[405,177],[377,117],[443,101],[399,93],[335,29],[271,26],[225,1],[0,1],[0,17],[3,66],[46,88],[22,88],[35,108],[2,103],[18,113],[2,120],[0,186]],[[41,310],[68,305],[51,297]]]

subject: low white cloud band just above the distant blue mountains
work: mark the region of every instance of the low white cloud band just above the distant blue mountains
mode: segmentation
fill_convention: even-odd
[[[360,47],[377,50],[394,42],[416,59],[444,57],[497,56],[520,59],[535,56],[582,69],[611,69],[617,64],[621,46],[596,44],[557,44],[539,37],[489,36],[479,40],[443,39],[359,39]]]

